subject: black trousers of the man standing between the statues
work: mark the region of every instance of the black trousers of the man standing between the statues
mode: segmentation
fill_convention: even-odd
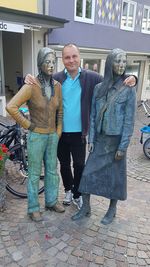
[[[78,198],[82,171],[85,164],[86,138],[81,132],[62,133],[58,143],[58,159],[65,191],[72,190],[73,197]],[[72,168],[73,167],[73,168]]]

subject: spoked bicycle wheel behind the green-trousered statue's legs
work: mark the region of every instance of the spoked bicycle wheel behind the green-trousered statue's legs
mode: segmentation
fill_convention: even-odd
[[[20,144],[9,149],[10,157],[6,161],[6,189],[20,198],[27,198],[28,159],[27,153]],[[41,174],[39,194],[44,192],[44,175]]]

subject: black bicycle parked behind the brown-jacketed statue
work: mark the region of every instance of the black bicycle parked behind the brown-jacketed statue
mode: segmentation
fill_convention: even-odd
[[[20,111],[25,115],[25,109]],[[3,130],[0,132],[0,143],[5,144],[10,153],[6,161],[6,189],[20,198],[27,198],[28,157],[27,157],[27,131],[19,124],[6,125],[0,122]],[[13,175],[12,175],[13,174]],[[44,192],[44,175],[40,176],[39,194]]]

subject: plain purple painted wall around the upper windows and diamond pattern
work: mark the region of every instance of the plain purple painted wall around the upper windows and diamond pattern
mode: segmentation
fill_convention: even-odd
[[[137,3],[150,6],[150,0]],[[150,53],[150,34],[120,30],[101,24],[74,22],[73,0],[51,0],[50,15],[69,19],[63,29],[53,30],[49,35],[49,44],[76,43],[78,46],[112,49],[120,47],[127,51]]]

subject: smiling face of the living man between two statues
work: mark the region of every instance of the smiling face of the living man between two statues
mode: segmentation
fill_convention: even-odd
[[[69,73],[77,72],[80,66],[80,54],[76,46],[66,46],[63,50],[62,61]]]

